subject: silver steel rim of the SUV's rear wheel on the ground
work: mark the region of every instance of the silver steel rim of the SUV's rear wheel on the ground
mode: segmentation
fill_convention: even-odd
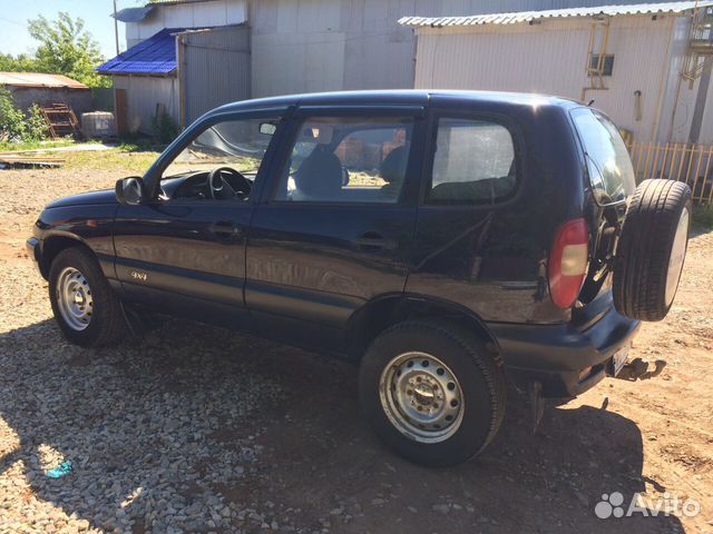
[[[410,352],[391,359],[381,373],[379,395],[391,424],[416,442],[443,442],[462,423],[460,383],[431,354]]]

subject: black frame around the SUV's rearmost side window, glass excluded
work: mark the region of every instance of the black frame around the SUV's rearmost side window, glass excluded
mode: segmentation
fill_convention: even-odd
[[[428,192],[433,184],[433,164],[436,161],[436,149],[438,148],[438,122],[440,119],[465,119],[481,122],[492,122],[506,128],[512,139],[512,150],[515,157],[515,187],[512,190],[494,202],[463,201],[463,202],[430,202]],[[526,174],[526,151],[524,134],[519,125],[509,116],[490,113],[486,111],[453,111],[449,109],[433,109],[428,125],[428,145],[423,156],[423,172],[421,179],[421,190],[419,194],[419,207],[440,209],[491,209],[507,206],[516,200],[522,189],[522,181]]]

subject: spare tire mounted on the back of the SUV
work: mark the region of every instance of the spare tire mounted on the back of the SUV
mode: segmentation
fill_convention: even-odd
[[[614,258],[614,305],[626,317],[663,319],[678,288],[691,224],[691,189],[644,180],[631,198]]]

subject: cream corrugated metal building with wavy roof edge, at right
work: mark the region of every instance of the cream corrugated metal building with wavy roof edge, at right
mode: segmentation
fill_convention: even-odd
[[[417,88],[594,100],[638,141],[711,144],[711,6],[677,1],[400,23],[416,31]]]

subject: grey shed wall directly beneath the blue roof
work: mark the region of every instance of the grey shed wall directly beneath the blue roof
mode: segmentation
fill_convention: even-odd
[[[115,76],[114,87],[126,89],[126,125],[129,131],[152,134],[156,106],[163,105],[176,122],[179,120],[178,80],[174,77]]]

